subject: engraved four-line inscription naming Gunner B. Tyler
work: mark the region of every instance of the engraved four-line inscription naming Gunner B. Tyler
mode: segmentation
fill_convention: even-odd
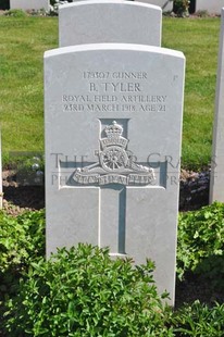
[[[146,72],[84,72],[87,95],[62,95],[63,112],[166,112],[167,96],[145,92]],[[151,89],[154,91],[153,87]]]

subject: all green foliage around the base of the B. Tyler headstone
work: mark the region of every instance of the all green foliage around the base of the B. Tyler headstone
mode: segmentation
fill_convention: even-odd
[[[197,273],[223,287],[223,234],[222,203],[181,214],[181,279]],[[108,249],[89,245],[46,262],[45,212],[0,212],[0,335],[223,336],[224,304],[195,301],[173,312],[158,295],[153,269],[150,261],[111,260]]]

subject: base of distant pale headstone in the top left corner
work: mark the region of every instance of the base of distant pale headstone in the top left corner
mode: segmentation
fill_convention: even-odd
[[[49,10],[50,2],[49,0],[10,0],[10,9],[20,9],[20,10]]]

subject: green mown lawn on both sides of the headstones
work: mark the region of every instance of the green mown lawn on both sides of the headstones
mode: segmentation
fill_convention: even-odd
[[[210,162],[220,18],[163,18],[165,48],[187,59],[183,165]],[[58,47],[58,17],[0,16],[0,123],[9,151],[43,150],[42,54]]]

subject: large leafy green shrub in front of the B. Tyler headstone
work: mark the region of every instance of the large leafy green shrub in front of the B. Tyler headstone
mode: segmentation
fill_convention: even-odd
[[[8,301],[10,336],[173,336],[153,284],[153,264],[111,260],[108,249],[79,245],[32,263]],[[9,335],[8,335],[9,336]]]

